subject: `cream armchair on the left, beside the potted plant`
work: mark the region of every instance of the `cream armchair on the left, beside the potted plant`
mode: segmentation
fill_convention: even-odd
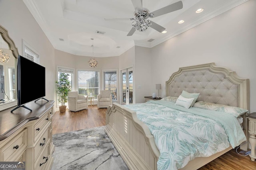
[[[68,92],[68,109],[70,111],[88,109],[88,96],[78,95],[78,91]]]

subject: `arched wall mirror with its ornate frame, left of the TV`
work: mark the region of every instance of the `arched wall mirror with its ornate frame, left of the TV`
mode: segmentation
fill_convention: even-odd
[[[18,49],[7,29],[0,25],[0,111],[17,105]]]

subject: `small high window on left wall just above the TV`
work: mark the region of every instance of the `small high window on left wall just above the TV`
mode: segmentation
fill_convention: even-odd
[[[33,49],[26,41],[22,39],[23,43],[23,56],[26,59],[29,59],[30,61],[33,61],[37,64],[39,64],[39,53]]]

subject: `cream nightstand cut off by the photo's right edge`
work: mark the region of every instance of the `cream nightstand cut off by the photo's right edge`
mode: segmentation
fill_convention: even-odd
[[[249,143],[251,145],[251,160],[255,161],[256,155],[255,155],[255,147],[256,147],[256,112],[250,113],[247,115],[247,118],[249,119]]]

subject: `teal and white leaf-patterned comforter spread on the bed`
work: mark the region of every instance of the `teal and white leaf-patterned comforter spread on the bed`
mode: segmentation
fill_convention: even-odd
[[[196,157],[234,148],[246,137],[236,117],[218,111],[186,109],[164,100],[124,105],[134,110],[160,151],[158,170],[177,170]]]

